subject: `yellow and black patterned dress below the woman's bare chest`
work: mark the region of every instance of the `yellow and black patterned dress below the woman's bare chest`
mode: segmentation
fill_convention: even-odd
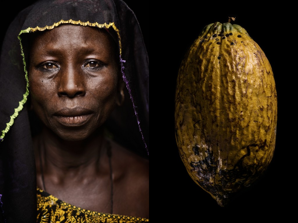
[[[149,219],[132,216],[106,214],[85,210],[68,204],[37,188],[38,223],[139,223]]]

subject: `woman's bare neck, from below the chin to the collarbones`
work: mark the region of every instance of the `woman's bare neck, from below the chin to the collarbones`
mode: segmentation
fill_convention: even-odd
[[[105,151],[103,131],[94,132],[82,141],[65,141],[44,128],[38,136],[38,153],[43,160],[45,174],[58,171],[62,175],[79,174],[90,168],[97,171],[101,154]]]

